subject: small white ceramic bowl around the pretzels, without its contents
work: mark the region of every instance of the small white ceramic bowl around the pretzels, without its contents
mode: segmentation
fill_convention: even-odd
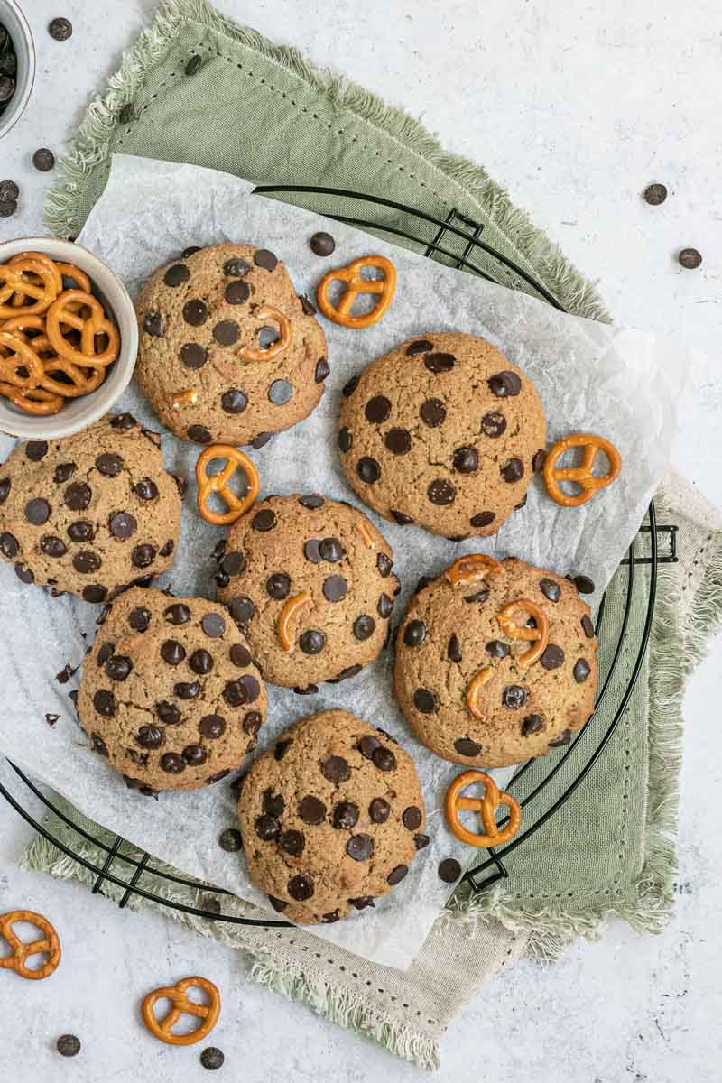
[[[128,290],[117,274],[107,263],[81,245],[69,240],[56,240],[54,237],[18,237],[16,240],[0,244],[0,263],[5,263],[18,252],[44,252],[53,260],[75,263],[84,271],[93,284],[99,300],[120,332],[118,356],[97,391],[78,399],[68,399],[57,414],[49,417],[25,414],[17,406],[13,406],[9,399],[0,396],[0,431],[11,436],[21,436],[23,440],[57,440],[61,436],[70,436],[74,432],[79,432],[93,421],[97,421],[108,413],[130,383],[137,353],[135,310]]]

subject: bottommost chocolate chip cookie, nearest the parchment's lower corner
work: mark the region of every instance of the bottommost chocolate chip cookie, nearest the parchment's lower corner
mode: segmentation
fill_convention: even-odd
[[[252,879],[309,925],[372,906],[429,841],[411,757],[345,710],[286,730],[245,778],[238,815]]]

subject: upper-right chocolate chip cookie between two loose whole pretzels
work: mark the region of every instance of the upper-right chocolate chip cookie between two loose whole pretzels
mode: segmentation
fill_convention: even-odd
[[[473,335],[403,342],[343,396],[338,442],[349,484],[402,525],[455,540],[496,534],[543,466],[536,388]]]

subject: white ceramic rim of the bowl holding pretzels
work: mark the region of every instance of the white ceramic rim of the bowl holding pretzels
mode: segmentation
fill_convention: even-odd
[[[65,413],[63,409],[49,416],[28,414],[27,417],[19,415],[15,417],[13,415],[11,420],[4,416],[0,417],[0,432],[19,440],[61,440],[94,425],[95,421],[109,413],[126,391],[133,377],[137,357],[137,319],[132,298],[113,268],[90,248],[86,248],[84,245],[79,245],[77,242],[63,240],[60,237],[12,237],[9,240],[0,242],[0,263],[3,263],[15,251],[24,250],[45,252],[51,259],[57,259],[57,256],[52,256],[48,251],[50,246],[63,249],[64,257],[67,252],[66,262],[74,262],[71,253],[82,253],[81,259],[76,256],[75,262],[102,289],[120,331],[120,350],[114,362],[114,373],[111,374],[111,377],[116,373],[118,374],[117,386],[108,393],[107,381],[104,381],[96,391],[91,391],[90,394],[75,400],[76,402],[83,401],[87,405],[82,417],[75,418],[73,421],[67,419],[67,415],[66,419],[63,419]],[[97,282],[99,273],[101,277],[106,278],[105,283]],[[121,319],[124,327],[121,327]]]

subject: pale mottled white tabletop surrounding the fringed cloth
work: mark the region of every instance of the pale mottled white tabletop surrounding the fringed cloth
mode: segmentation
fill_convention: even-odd
[[[60,148],[89,92],[116,65],[150,0],[26,0],[39,47],[38,81],[23,120],[0,143],[0,173],[22,186],[22,211],[0,239],[41,232],[48,182],[30,156]],[[680,469],[722,504],[722,135],[718,0],[220,0],[219,6],[317,63],[343,69],[404,104],[459,153],[485,162],[512,197],[599,278],[620,323],[666,330],[708,350],[712,365],[685,413]],[[102,12],[102,13],[101,13]],[[45,25],[64,14],[73,39]],[[473,79],[457,78],[459,52]],[[648,208],[640,192],[664,181],[670,198]],[[705,262],[685,272],[679,248]],[[547,970],[517,966],[451,1026],[439,1080],[476,1083],[677,1083],[720,1079],[722,811],[718,675],[722,642],[686,702],[680,879],[675,918],[661,937],[617,923],[601,943],[578,943]],[[6,769],[0,768],[8,778]],[[30,986],[0,975],[8,1083],[178,1083],[207,1079],[197,1052],[155,1043],[137,1005],[159,978],[201,970],[225,991],[213,1043],[220,1079],[360,1083],[419,1078],[370,1043],[305,1008],[244,983],[236,954],[159,917],[120,913],[73,884],[17,870],[28,838],[0,805],[0,911],[51,914],[65,965]],[[81,1036],[64,1061],[56,1036]]]

